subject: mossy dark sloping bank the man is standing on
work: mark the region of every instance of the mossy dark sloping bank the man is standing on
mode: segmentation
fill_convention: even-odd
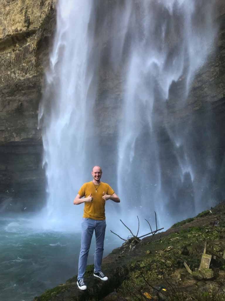
[[[209,268],[199,271],[206,242],[211,263]],[[144,238],[141,243],[127,240],[103,259],[102,270],[108,281],[96,279],[93,265],[88,265],[87,290],[78,289],[75,275],[33,301],[222,301],[225,298],[224,250],[223,201],[194,218],[176,223],[165,232]]]

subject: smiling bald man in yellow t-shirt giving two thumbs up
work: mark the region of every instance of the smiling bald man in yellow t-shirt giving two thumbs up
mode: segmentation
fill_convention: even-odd
[[[105,202],[107,200],[112,200],[116,203],[120,202],[119,197],[115,194],[113,189],[107,183],[100,181],[102,176],[101,167],[94,166],[91,174],[93,180],[82,185],[73,201],[74,205],[84,203],[83,222],[81,224],[81,248],[77,275],[77,286],[80,290],[86,290],[87,288],[84,283],[84,272],[94,230],[96,239],[94,276],[104,281],[108,280],[101,272],[106,229]],[[82,197],[84,197],[84,199],[82,199]]]

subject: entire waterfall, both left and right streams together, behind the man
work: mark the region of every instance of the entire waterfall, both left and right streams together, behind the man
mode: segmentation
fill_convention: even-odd
[[[72,201],[94,165],[121,198],[119,209],[107,204],[109,219],[151,219],[155,210],[169,226],[202,208],[210,154],[199,163],[208,167],[196,167],[195,119],[168,119],[185,110],[211,51],[212,8],[203,0],[58,1],[39,110],[48,222],[82,216]]]

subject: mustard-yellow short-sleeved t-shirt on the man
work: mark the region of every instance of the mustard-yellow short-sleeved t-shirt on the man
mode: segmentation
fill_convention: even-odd
[[[97,192],[96,192],[97,190]],[[88,219],[104,220],[105,217],[105,200],[103,200],[103,192],[108,195],[114,194],[113,189],[107,183],[101,182],[100,185],[95,185],[92,181],[84,183],[78,194],[81,197],[88,197],[91,193],[93,201],[84,202],[84,215]]]

